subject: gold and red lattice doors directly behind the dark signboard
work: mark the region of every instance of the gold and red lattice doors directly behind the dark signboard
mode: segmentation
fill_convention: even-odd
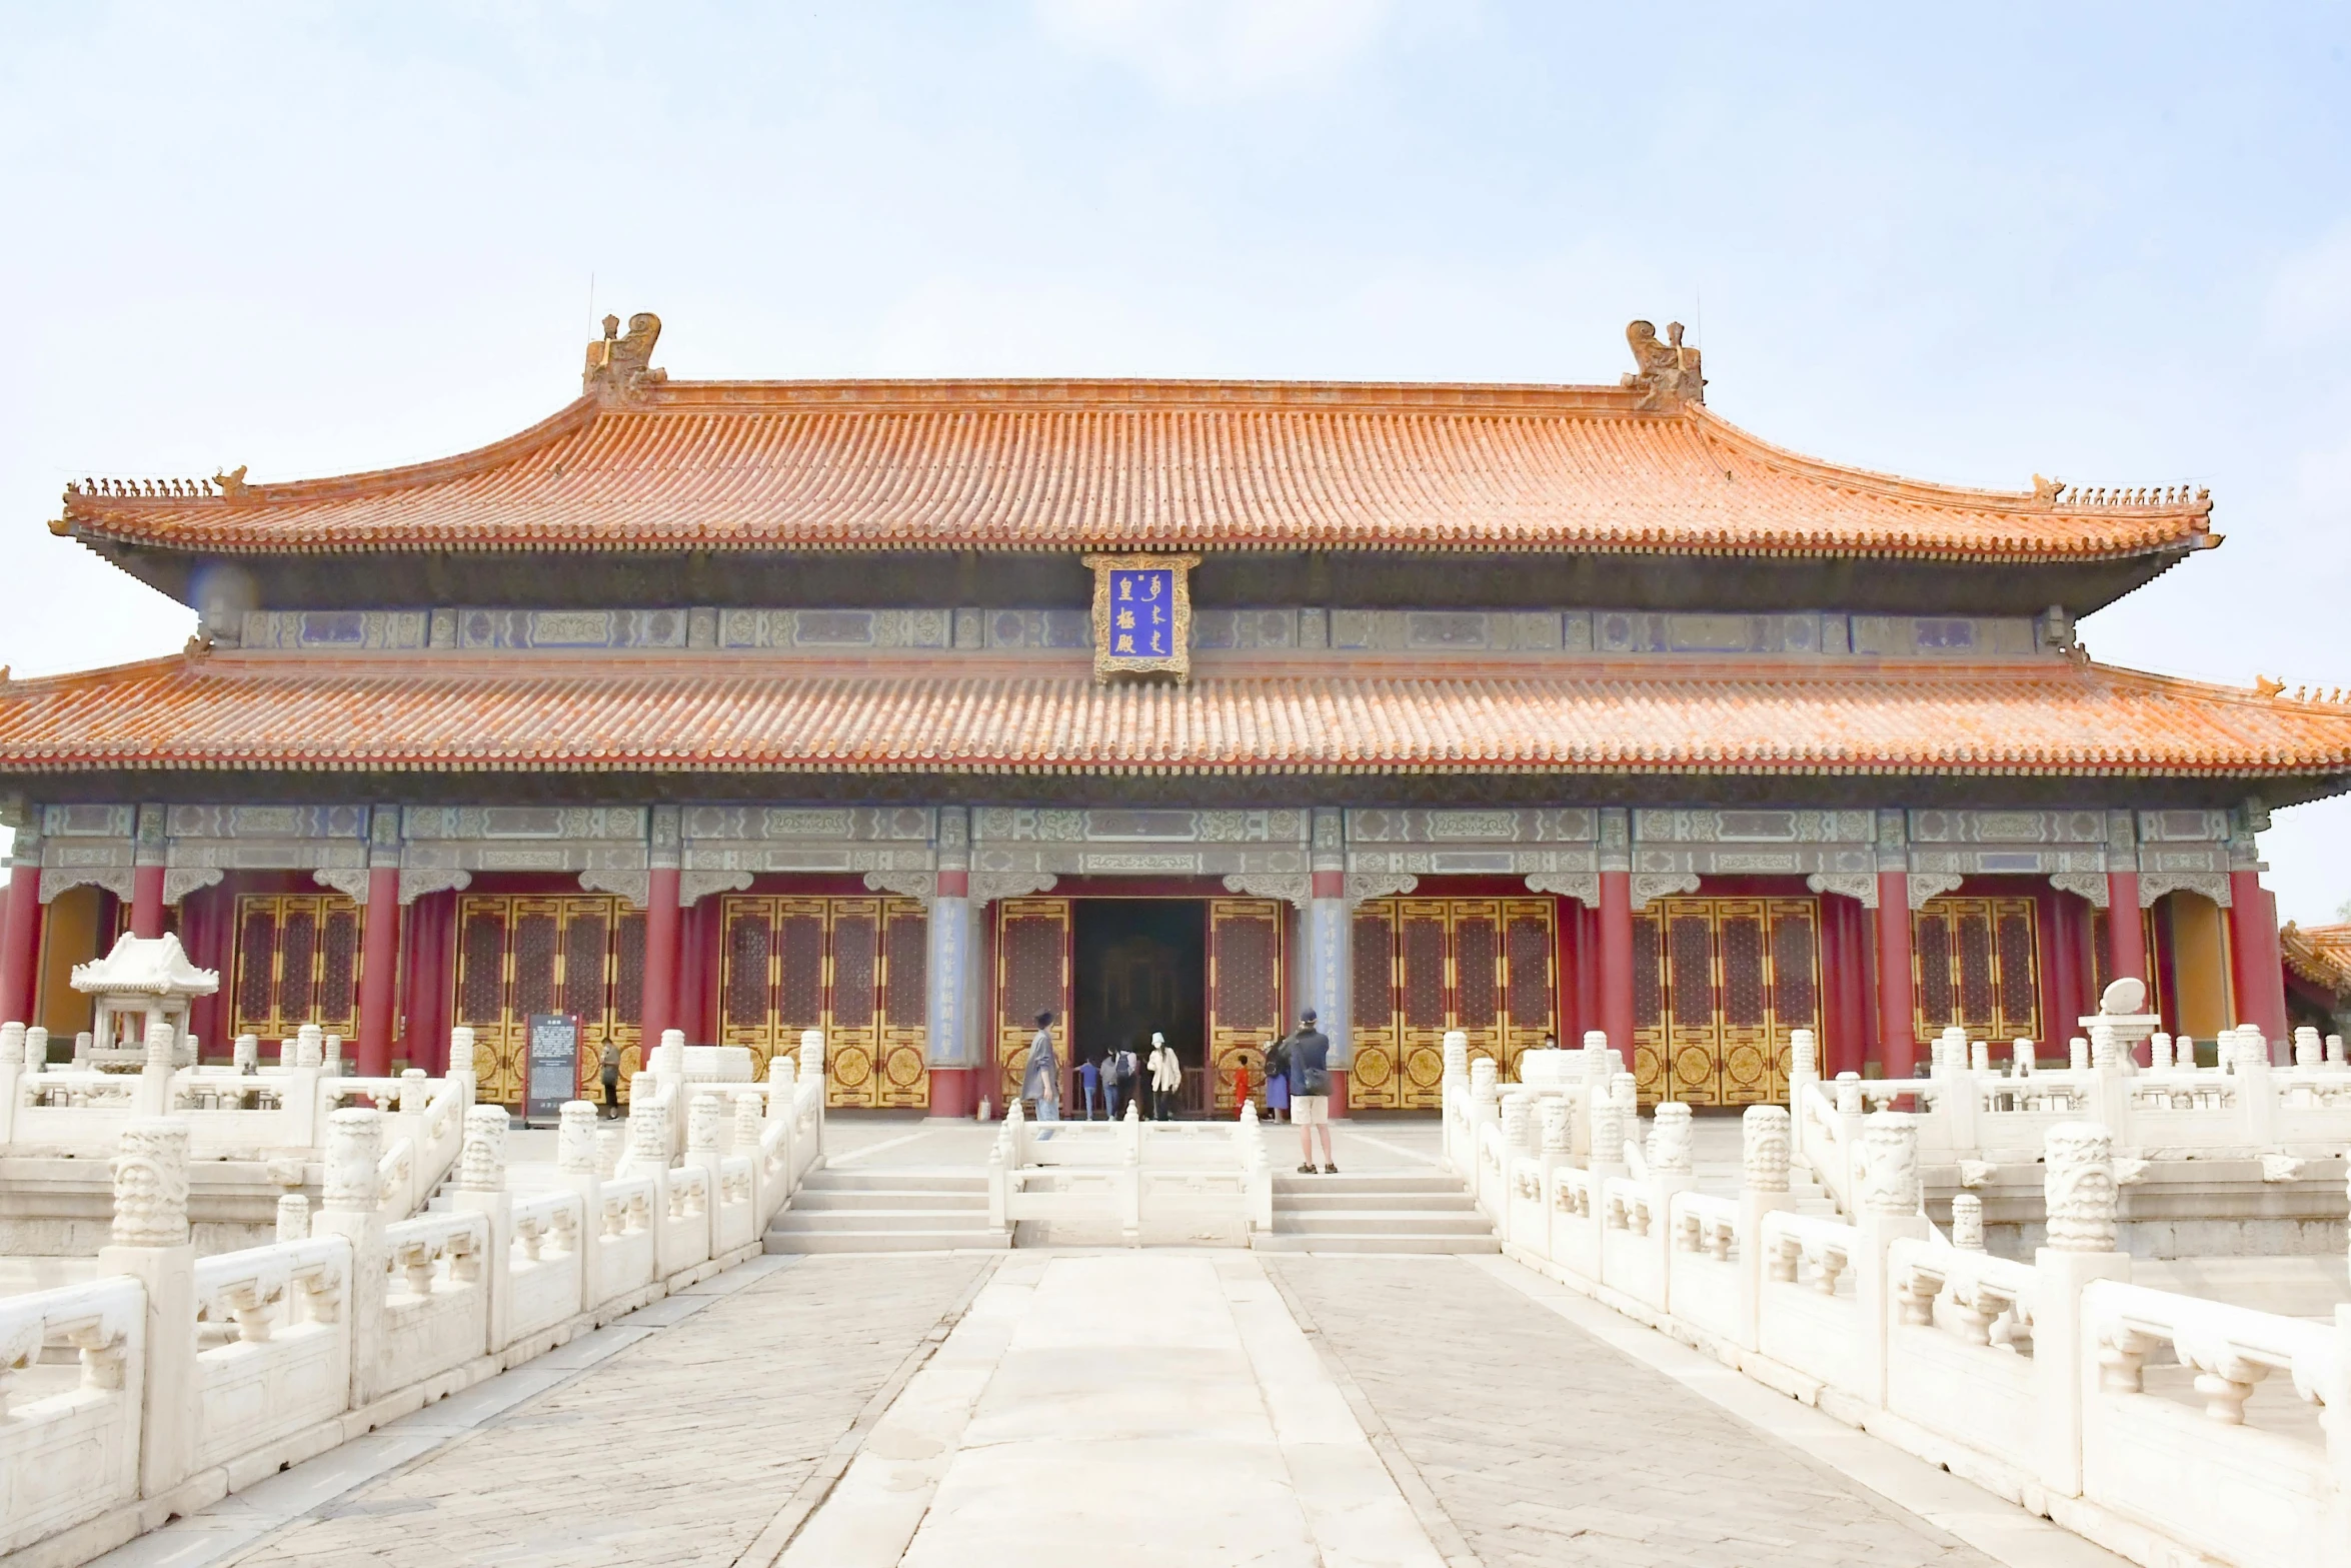
[[[581,1020],[578,1095],[602,1103],[597,1063],[621,1046],[621,1098],[639,1067],[644,910],[611,893],[463,893],[456,1020],[473,1030],[482,1105],[520,1105],[531,1013]]]

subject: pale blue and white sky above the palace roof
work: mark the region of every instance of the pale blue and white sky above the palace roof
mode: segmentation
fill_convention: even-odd
[[[2351,9],[0,5],[19,675],[193,614],[80,475],[503,437],[595,317],[679,376],[1615,381],[1930,480],[2212,489],[2097,658],[2351,684]],[[2278,813],[2288,917],[2351,806]]]

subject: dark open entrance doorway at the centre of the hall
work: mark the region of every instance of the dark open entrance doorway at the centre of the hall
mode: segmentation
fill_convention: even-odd
[[[1079,898],[1070,907],[1070,1037],[1074,1060],[1100,1060],[1119,1046],[1136,1053],[1143,1079],[1152,1032],[1183,1058],[1185,1114],[1206,1105],[1208,1074],[1208,905],[1199,898]],[[1072,1086],[1063,1114],[1081,1114]],[[1150,1105],[1145,1103],[1145,1112]]]

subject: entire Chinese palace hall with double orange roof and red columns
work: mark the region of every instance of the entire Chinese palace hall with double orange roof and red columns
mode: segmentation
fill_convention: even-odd
[[[0,1018],[176,931],[207,1056],[301,1023],[522,1098],[534,1016],[971,1114],[1039,1011],[1192,1110],[1314,1006],[1357,1112],[1606,1030],[1646,1100],[1923,1041],[2064,1056],[2111,976],[2288,1030],[2269,811],[2351,708],[2092,663],[2219,545],[2191,489],[1956,489],[1773,447],[1634,322],[1610,386],[682,381],[414,468],[85,480],[190,604],[0,675]],[[47,543],[47,541],[45,541]],[[71,548],[54,543],[49,548]],[[2304,964],[2309,969],[2309,964]]]

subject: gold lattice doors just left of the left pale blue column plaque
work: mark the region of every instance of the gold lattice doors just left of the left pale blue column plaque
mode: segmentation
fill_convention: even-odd
[[[929,1105],[929,917],[905,898],[719,900],[719,1039],[752,1070],[825,1032],[825,1103]]]

